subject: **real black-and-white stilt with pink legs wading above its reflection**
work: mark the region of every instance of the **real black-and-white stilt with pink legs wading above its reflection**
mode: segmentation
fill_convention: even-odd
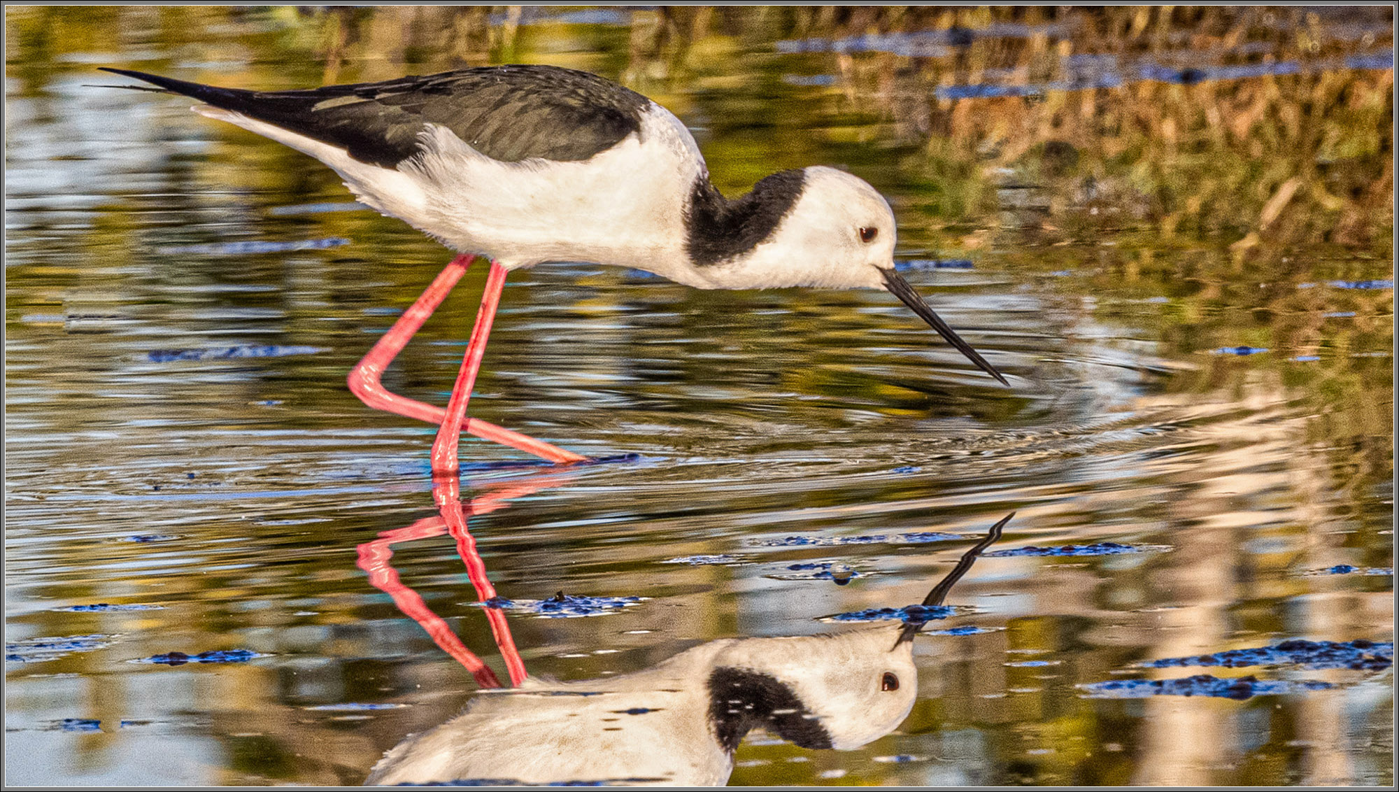
[[[320,160],[365,204],[459,250],[350,372],[368,406],[441,425],[434,473],[455,473],[462,430],[553,462],[586,458],[466,417],[511,270],[543,262],[635,267],[698,288],[879,288],[1003,385],[894,270],[894,213],[835,168],[774,174],[729,200],[690,130],[616,83],[553,66],[462,69],[306,91],[243,91],[105,69],[193,97],[194,111]],[[491,260],[446,410],[388,392],[385,368],[460,280]]]

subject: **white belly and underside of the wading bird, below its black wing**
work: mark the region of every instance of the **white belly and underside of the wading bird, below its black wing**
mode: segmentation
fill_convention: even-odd
[[[501,162],[427,125],[424,154],[396,169],[241,113],[196,111],[320,160],[368,206],[508,269],[592,262],[711,285],[684,252],[683,215],[704,160],[684,125],[659,105],[644,113],[639,134],[590,160]]]

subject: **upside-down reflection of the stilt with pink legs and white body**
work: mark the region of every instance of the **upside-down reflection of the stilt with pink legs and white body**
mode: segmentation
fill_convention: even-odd
[[[806,749],[848,750],[893,732],[908,716],[918,691],[912,639],[923,627],[921,621],[792,638],[725,638],[639,672],[551,681],[526,676],[504,613],[488,607],[513,684],[502,687],[490,666],[399,581],[389,565],[389,546],[449,533],[477,596],[487,600],[495,591],[485,579],[467,518],[546,486],[522,483],[464,505],[455,484],[439,486],[441,516],[360,546],[360,567],[371,582],[393,596],[483,688],[462,714],[389,750],[365,784],[713,786],[729,779],[734,750],[754,728]],[[942,604],[1011,516],[967,550],[922,604]]]

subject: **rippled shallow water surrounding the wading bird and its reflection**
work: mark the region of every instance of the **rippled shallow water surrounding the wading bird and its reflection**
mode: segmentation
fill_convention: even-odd
[[[921,602],[1014,511],[916,638],[893,733],[754,732],[729,782],[1393,784],[1392,669],[1139,665],[1393,639],[1379,11],[8,8],[7,782],[362,782],[477,690],[357,564],[395,539],[385,563],[506,679],[432,522],[429,427],[344,386],[449,253],[185,99],[90,85],[516,60],[655,97],[729,195],[867,178],[907,277],[1011,382],[884,294],[512,274],[473,414],[613,460],[463,441],[476,550],[518,603],[638,597],[498,611],[530,674],[858,630],[830,617]],[[434,14],[467,32],[443,46]],[[392,390],[445,403],[483,281]],[[1083,687],[1196,674],[1297,684]]]

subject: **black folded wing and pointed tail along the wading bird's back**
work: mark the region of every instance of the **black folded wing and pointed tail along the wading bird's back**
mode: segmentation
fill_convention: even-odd
[[[242,91],[126,69],[102,71],[305,134],[383,168],[420,151],[427,123],[450,129],[492,160],[588,160],[638,132],[651,104],[596,74],[554,66],[460,69],[308,91]]]

